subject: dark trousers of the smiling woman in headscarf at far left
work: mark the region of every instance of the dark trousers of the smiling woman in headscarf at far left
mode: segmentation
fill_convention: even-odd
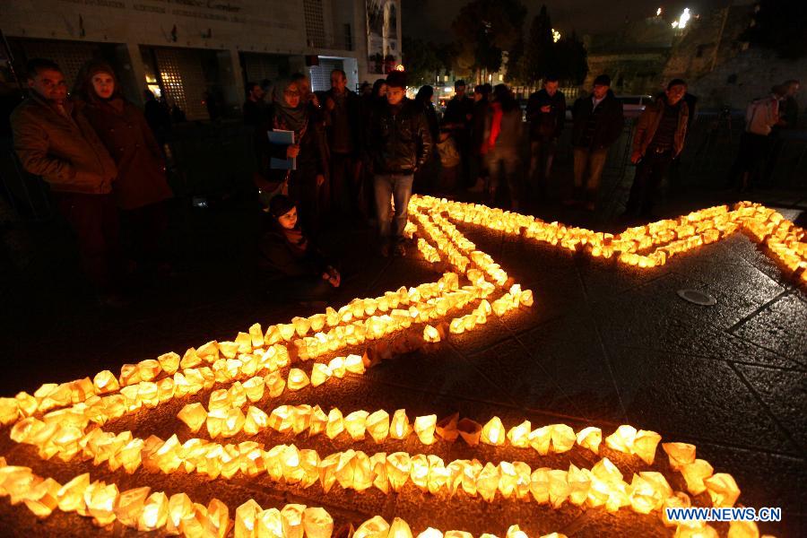
[[[120,212],[127,257],[152,266],[168,261],[163,244],[169,221],[166,204],[158,202]]]

